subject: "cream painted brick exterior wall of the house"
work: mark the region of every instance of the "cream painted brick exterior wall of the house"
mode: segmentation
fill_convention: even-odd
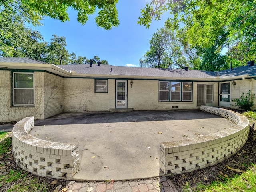
[[[0,71],[0,122],[18,121],[27,116],[45,119],[62,112],[97,112],[115,108],[116,80],[108,79],[108,92],[96,93],[93,78],[62,78],[47,72],[34,72],[34,106],[12,106],[11,71]],[[214,103],[218,106],[218,82],[193,82],[192,101],[158,101],[158,80],[127,80],[127,108],[133,110],[175,110],[199,109],[197,105],[197,85],[214,84]],[[256,94],[255,80],[236,80],[231,83],[231,100],[240,98],[242,92],[252,90]],[[253,100],[256,109],[256,98]],[[231,102],[234,105],[234,102]],[[231,108],[236,108],[231,106]]]

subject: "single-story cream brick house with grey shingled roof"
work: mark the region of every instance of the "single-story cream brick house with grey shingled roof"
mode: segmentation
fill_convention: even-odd
[[[111,65],[53,65],[31,58],[0,58],[0,122],[27,116],[112,109],[235,108],[242,93],[256,94],[256,65],[219,72]],[[256,109],[256,99],[253,99]]]

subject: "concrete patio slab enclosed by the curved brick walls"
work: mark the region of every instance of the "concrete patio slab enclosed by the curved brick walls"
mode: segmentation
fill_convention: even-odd
[[[76,143],[75,180],[132,180],[162,176],[159,143],[213,134],[235,124],[200,110],[63,113],[35,120],[32,136]]]

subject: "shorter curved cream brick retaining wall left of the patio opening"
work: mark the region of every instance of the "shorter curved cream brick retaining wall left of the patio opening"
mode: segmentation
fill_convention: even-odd
[[[15,162],[39,176],[71,179],[80,169],[78,146],[33,137],[29,134],[33,128],[34,117],[26,117],[14,126],[12,152]]]

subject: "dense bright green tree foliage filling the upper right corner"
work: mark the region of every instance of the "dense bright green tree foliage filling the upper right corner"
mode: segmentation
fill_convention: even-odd
[[[165,26],[182,41],[190,65],[216,71],[228,69],[230,62],[236,67],[256,59],[255,8],[255,0],[152,0],[138,24],[149,28],[153,19],[169,12]],[[226,56],[223,48],[228,48]]]

